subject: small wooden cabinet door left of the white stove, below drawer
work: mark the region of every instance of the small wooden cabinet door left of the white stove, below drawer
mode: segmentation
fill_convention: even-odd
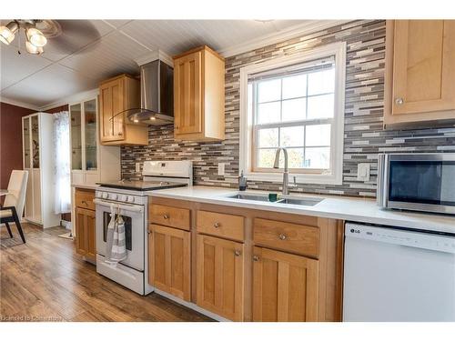
[[[76,252],[95,261],[96,259],[95,211],[76,207]]]

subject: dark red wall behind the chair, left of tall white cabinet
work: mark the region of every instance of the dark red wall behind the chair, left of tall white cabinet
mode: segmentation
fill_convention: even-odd
[[[22,116],[25,107],[0,103],[0,187],[6,188],[13,169],[22,169]]]

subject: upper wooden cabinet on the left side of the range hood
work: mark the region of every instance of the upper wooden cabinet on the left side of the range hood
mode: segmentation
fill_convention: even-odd
[[[140,106],[139,88],[139,81],[130,75],[118,75],[99,86],[99,136],[103,145],[148,145],[148,127],[128,122],[122,113]]]

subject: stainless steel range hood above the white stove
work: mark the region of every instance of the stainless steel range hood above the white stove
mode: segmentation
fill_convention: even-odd
[[[174,68],[169,61],[171,59],[160,51],[152,57],[136,61],[140,65],[141,107],[128,111],[127,117],[131,122],[143,125],[174,123]]]

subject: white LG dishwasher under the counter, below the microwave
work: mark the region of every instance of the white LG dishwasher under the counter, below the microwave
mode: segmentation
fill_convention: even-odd
[[[455,321],[455,236],[347,223],[343,321]]]

